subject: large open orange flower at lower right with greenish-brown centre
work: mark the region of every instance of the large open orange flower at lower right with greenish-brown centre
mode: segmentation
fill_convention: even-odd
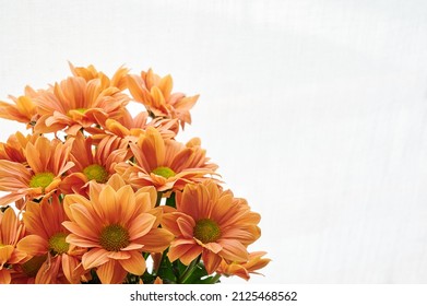
[[[244,199],[222,191],[216,183],[187,185],[177,192],[177,209],[165,213],[163,228],[175,236],[168,257],[188,266],[200,255],[207,273],[222,260],[247,262],[247,246],[261,235],[260,215],[251,212]]]

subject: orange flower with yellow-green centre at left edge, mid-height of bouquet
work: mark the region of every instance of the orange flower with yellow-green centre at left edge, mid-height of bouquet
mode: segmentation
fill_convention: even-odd
[[[0,161],[0,190],[10,193],[0,198],[0,205],[17,201],[26,196],[28,200],[54,192],[61,183],[61,176],[74,164],[69,162],[71,141],[64,144],[54,139],[38,137],[34,144],[28,142],[22,163]]]

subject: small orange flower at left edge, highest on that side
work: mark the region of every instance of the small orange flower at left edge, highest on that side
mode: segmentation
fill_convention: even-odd
[[[37,120],[37,108],[33,98],[37,93],[29,86],[25,87],[25,95],[20,97],[10,96],[15,105],[0,101],[0,117],[9,120],[27,123],[29,128]]]

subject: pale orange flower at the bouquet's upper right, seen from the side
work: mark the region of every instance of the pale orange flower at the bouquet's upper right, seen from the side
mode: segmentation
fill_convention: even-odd
[[[153,117],[177,118],[182,128],[185,123],[191,123],[190,109],[199,95],[171,93],[170,75],[161,78],[150,69],[147,72],[142,71],[141,75],[129,75],[128,86],[133,98],[144,104]]]

